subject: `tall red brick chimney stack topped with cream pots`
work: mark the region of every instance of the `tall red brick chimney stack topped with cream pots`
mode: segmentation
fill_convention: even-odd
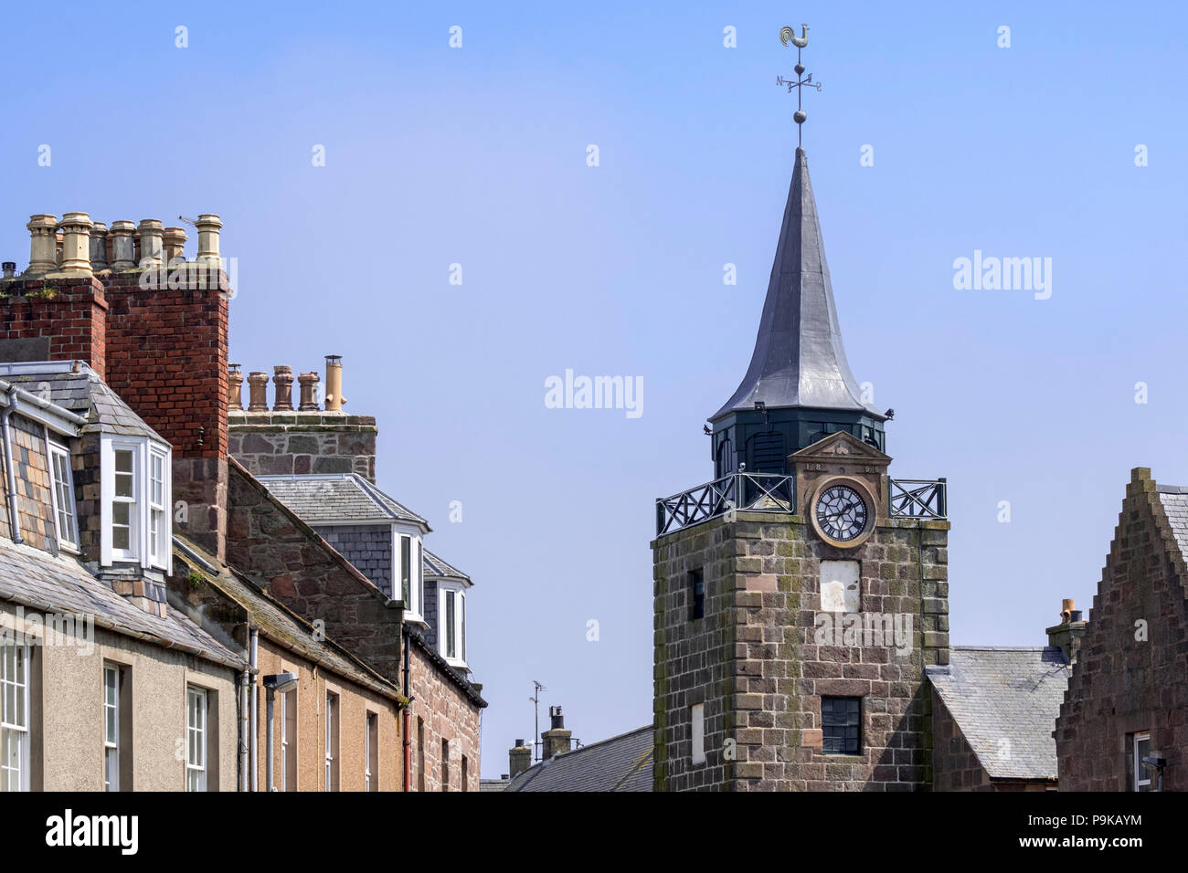
[[[105,226],[87,213],[65,213],[61,222],[38,214],[26,224],[29,268],[0,280],[0,360],[90,365],[172,444],[173,501],[187,510],[175,514],[178,532],[220,559],[232,291],[219,259],[221,226],[217,216],[200,216],[200,265],[184,261],[184,232],[166,232],[156,219]]]

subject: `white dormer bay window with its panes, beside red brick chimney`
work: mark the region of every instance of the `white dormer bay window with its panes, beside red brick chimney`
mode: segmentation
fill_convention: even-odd
[[[170,449],[147,438],[103,436],[101,451],[103,565],[170,570]]]

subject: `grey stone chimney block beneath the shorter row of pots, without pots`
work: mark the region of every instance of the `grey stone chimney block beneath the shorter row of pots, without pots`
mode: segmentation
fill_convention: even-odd
[[[334,412],[233,412],[232,457],[255,475],[358,473],[375,481],[375,418]]]

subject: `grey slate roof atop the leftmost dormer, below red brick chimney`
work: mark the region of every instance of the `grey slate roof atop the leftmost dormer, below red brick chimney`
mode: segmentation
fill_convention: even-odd
[[[2,368],[4,379],[12,385],[49,398],[76,415],[84,416],[88,424],[83,432],[116,434],[119,436],[152,437],[166,442],[157,431],[145,424],[132,407],[116,394],[99,373],[82,361],[69,362],[74,369],[65,369],[63,362],[45,362],[45,369],[23,365],[19,368]]]

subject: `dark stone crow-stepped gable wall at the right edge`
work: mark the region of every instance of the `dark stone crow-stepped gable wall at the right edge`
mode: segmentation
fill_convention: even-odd
[[[1056,719],[1061,791],[1130,790],[1127,735],[1139,732],[1168,761],[1164,790],[1188,791],[1186,572],[1151,472],[1137,468]]]

